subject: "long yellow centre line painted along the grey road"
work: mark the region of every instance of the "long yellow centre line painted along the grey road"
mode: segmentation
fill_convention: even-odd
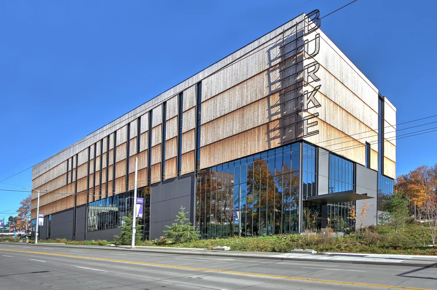
[[[114,260],[114,259],[85,257],[85,256],[73,256],[73,255],[66,255],[66,254],[55,254],[55,253],[46,253],[46,252],[24,251],[24,250],[12,250],[12,249],[1,249],[0,248],[0,251],[23,252],[23,253],[32,253],[32,254],[42,254],[42,255],[63,256],[63,257],[73,257],[73,258],[103,260],[103,261],[111,261],[111,262],[140,264],[140,265],[148,265],[148,266],[170,267],[170,268],[187,269],[187,270],[198,270],[198,271],[208,271],[208,272],[217,272],[217,273],[229,273],[229,274],[250,275],[250,276],[268,277],[268,278],[290,279],[290,280],[299,280],[299,281],[333,283],[333,284],[365,286],[365,287],[379,287],[379,288],[403,289],[403,290],[433,290],[433,289],[425,289],[425,288],[411,288],[411,287],[401,287],[401,286],[388,286],[388,285],[378,285],[378,284],[354,283],[354,282],[321,280],[321,279],[312,279],[312,278],[300,278],[300,277],[278,276],[278,275],[257,274],[257,273],[245,273],[245,272],[235,272],[235,271],[226,271],[226,270],[203,269],[203,268],[193,268],[193,267],[184,267],[184,266],[163,265],[163,264],[154,264],[154,263],[143,263],[143,262],[134,262],[134,261],[124,261],[124,260]]]

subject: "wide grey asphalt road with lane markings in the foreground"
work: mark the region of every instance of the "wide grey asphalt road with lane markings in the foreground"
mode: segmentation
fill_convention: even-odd
[[[437,269],[1,244],[0,289],[437,290]]]

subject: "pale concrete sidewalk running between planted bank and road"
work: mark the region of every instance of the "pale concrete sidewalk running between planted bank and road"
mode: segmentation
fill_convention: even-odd
[[[14,245],[16,242],[0,242],[1,244]],[[25,245],[25,244],[20,244]],[[154,246],[137,246],[131,249],[130,246],[90,246],[90,245],[65,245],[57,243],[28,244],[29,248],[36,250],[38,246],[53,246],[62,248],[116,250],[129,252],[153,252],[163,254],[197,255],[197,256],[220,256],[240,257],[251,259],[278,259],[293,261],[312,261],[329,263],[353,263],[353,264],[374,264],[392,266],[414,266],[414,267],[437,267],[437,256],[413,256],[413,255],[382,255],[382,254],[358,254],[358,253],[320,253],[320,254],[297,254],[278,252],[241,252],[241,251],[216,251],[208,249],[191,248],[170,248]]]

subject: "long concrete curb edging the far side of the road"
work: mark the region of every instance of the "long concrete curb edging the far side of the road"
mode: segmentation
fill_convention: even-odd
[[[0,242],[0,244],[11,244],[16,242]],[[244,254],[241,252],[233,252],[233,251],[216,251],[216,252],[203,252],[206,250],[202,250],[202,252],[193,251],[180,251],[178,248],[166,248],[156,247],[157,249],[128,249],[121,247],[109,247],[109,246],[88,246],[88,245],[66,245],[66,244],[58,244],[58,243],[38,243],[31,244],[33,246],[51,246],[56,245],[62,248],[73,248],[73,249],[98,249],[98,250],[113,250],[113,251],[128,251],[128,252],[152,252],[152,253],[160,253],[160,254],[177,254],[177,255],[192,255],[192,256],[214,256],[214,257],[239,257],[239,258],[247,258],[247,259],[271,259],[271,260],[284,260],[284,261],[301,261],[301,262],[326,262],[326,263],[346,263],[346,264],[370,264],[370,265],[385,265],[385,266],[409,266],[409,267],[425,267],[425,268],[437,268],[437,261],[430,261],[434,263],[412,263],[412,262],[379,262],[379,261],[353,261],[353,260],[332,260],[332,259],[307,259],[307,258],[287,258],[287,257],[272,257],[267,255],[251,255]],[[220,252],[220,253],[219,253]],[[261,252],[260,252],[261,253]],[[264,253],[264,252],[263,252]],[[267,252],[266,252],[267,253]],[[275,252],[268,252],[269,254],[274,254]],[[281,253],[277,253],[281,254]],[[426,256],[425,256],[426,257]]]

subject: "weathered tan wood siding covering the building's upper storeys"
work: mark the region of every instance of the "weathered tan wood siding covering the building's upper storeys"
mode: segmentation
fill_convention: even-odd
[[[149,184],[149,170],[152,184],[177,177],[178,167],[194,174],[198,105],[199,169],[305,140],[362,165],[371,143],[377,170],[378,96],[302,14],[35,165],[32,187],[41,190],[40,213],[49,215],[132,188],[135,157],[139,187]],[[396,108],[384,102],[384,174],[394,178]],[[35,209],[34,192],[32,219]]]

